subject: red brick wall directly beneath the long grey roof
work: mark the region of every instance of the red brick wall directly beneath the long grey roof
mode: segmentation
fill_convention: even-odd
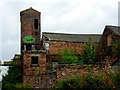
[[[44,41],[44,43],[49,43],[49,54],[58,54],[59,50],[64,52],[66,48],[73,50],[76,54],[81,54],[82,45],[84,45],[84,43],[62,41]]]

